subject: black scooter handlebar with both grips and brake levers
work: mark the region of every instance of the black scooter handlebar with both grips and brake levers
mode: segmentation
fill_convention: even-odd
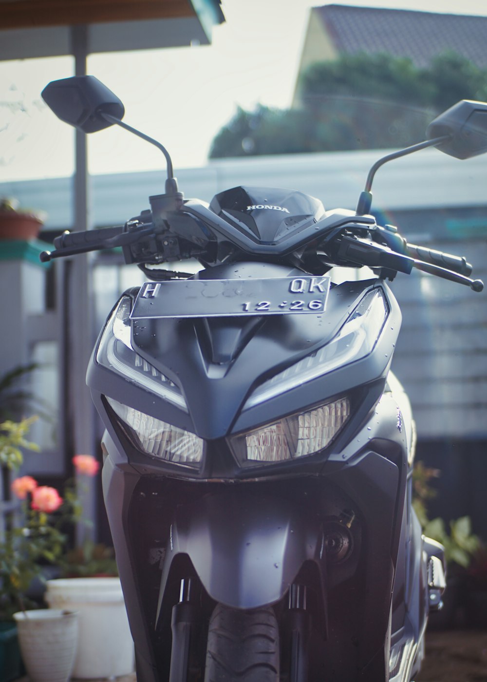
[[[54,240],[56,250],[52,253],[42,252],[40,259],[46,262],[51,258],[121,247],[126,263],[136,263],[139,267],[147,263],[181,261],[201,256],[211,263],[218,261],[219,239],[225,243],[224,252],[227,256],[229,241],[233,243],[235,256],[249,251],[248,243],[241,235],[239,233],[233,235],[230,224],[204,206],[198,205],[197,208],[198,210],[191,204],[185,205],[182,212],[168,212],[163,226],[143,221],[139,216],[125,226],[78,233],[66,232]],[[193,213],[196,218],[200,218],[205,228],[194,222]],[[338,220],[331,221],[331,224],[323,227],[324,239],[320,246],[336,265],[367,265],[372,269],[379,269],[381,276],[389,279],[394,278],[396,272],[409,274],[416,268],[458,284],[467,284],[473,291],[482,291],[484,287],[482,281],[471,280],[468,277],[472,266],[467,263],[466,258],[407,243],[387,226],[383,228],[374,224],[373,219],[370,223],[357,224],[355,218],[353,220],[343,218],[344,216],[340,216]],[[330,222],[329,218],[326,220]],[[197,231],[192,231],[193,222],[198,227]],[[295,241],[294,246],[296,247],[298,243]],[[302,244],[305,243],[306,239]],[[251,246],[254,246],[253,243]],[[266,248],[266,254],[274,255],[273,247],[276,244],[259,245],[261,249],[259,253],[262,252],[263,246]],[[285,251],[276,256],[282,257],[283,253]],[[316,263],[321,261],[318,259],[314,265],[312,261],[310,263],[311,267],[316,267]]]

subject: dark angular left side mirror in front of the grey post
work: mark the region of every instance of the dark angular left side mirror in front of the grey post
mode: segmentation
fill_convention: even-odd
[[[95,76],[72,76],[52,80],[42,91],[42,99],[55,115],[83,132],[96,132],[113,125],[107,114],[123,119],[123,104]]]

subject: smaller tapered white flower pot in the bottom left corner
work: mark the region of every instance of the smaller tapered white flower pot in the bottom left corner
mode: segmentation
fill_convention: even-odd
[[[78,614],[42,608],[14,613],[30,682],[68,682],[78,641]]]

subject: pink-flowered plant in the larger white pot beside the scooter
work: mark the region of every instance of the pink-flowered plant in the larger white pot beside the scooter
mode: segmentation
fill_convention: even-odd
[[[23,608],[24,615],[19,612],[15,617],[22,638],[21,628],[27,627],[26,622],[37,614],[27,610],[33,606],[29,586],[33,578],[44,580],[43,563],[57,566],[63,577],[46,581],[44,599],[50,610],[78,612],[78,653],[73,676],[128,674],[134,669],[133,643],[113,556],[108,548],[89,538],[74,550],[68,548],[74,524],[83,521],[78,490],[83,487],[83,479],[95,476],[99,469],[91,455],[76,455],[73,464],[76,481],[66,482],[62,497],[54,488],[38,486],[30,476],[12,482],[14,494],[22,500],[25,520],[20,527],[8,531],[3,557],[0,553],[0,580],[7,587],[5,606],[10,606],[10,614],[15,608],[18,610],[16,604]],[[46,621],[44,627],[47,629],[48,625]],[[20,644],[27,646],[22,639]],[[26,653],[26,665],[27,657]]]

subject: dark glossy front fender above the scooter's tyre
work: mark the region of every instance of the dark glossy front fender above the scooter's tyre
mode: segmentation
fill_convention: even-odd
[[[245,488],[207,495],[175,511],[159,607],[173,560],[187,554],[216,602],[250,609],[284,597],[305,561],[325,575],[323,528],[297,505]],[[184,577],[184,576],[181,576]]]

